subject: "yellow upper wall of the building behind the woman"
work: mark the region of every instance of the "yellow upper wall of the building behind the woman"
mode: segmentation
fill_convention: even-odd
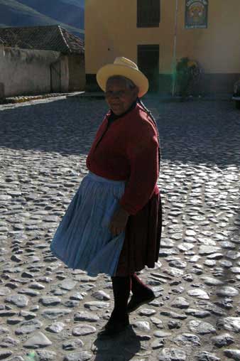
[[[177,59],[198,60],[204,72],[240,72],[240,0],[209,0],[208,27],[185,29],[185,0],[178,0]],[[159,45],[159,72],[173,66],[175,0],[160,0],[159,28],[137,28],[136,0],[85,1],[86,73],[116,56],[137,62],[137,45]]]

